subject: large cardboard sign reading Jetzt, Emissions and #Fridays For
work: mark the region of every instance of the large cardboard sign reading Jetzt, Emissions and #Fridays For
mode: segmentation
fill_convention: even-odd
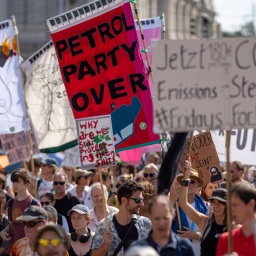
[[[154,123],[166,131],[256,126],[256,39],[153,41]]]

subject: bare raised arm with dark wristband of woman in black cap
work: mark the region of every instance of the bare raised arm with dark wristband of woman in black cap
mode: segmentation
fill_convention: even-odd
[[[179,205],[186,215],[199,227],[200,232],[203,233],[208,216],[198,212],[191,204],[188,203],[188,185],[190,181],[189,175],[191,162],[185,161],[183,168],[183,182],[180,188]]]

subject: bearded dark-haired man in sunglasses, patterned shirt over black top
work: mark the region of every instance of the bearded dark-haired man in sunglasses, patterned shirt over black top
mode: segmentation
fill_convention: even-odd
[[[105,220],[98,226],[92,242],[92,256],[117,255],[125,251],[132,242],[148,236],[151,223],[146,217],[138,217],[143,187],[136,181],[126,181],[117,191],[119,211],[108,216],[109,231]]]

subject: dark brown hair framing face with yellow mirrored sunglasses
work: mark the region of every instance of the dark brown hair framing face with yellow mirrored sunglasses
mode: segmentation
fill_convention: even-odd
[[[67,235],[65,229],[59,225],[47,224],[47,225],[42,226],[42,228],[40,228],[36,234],[36,237],[34,240],[34,248],[35,248],[36,252],[38,252],[40,238],[42,237],[42,235],[45,232],[48,232],[48,231],[55,232],[59,236],[59,238],[64,240],[64,245],[66,246],[66,249],[67,250],[69,249],[70,242],[69,242],[69,238],[68,238],[68,235]]]

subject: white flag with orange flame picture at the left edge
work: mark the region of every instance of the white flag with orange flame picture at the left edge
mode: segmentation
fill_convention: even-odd
[[[0,22],[0,134],[27,130],[17,42],[11,20]]]

